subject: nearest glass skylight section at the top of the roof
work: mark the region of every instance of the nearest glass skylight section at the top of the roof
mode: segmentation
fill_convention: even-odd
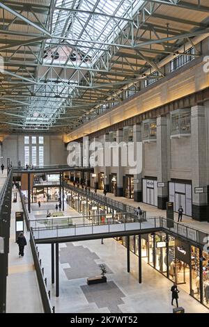
[[[127,23],[125,19],[132,19],[143,3],[143,0],[57,0],[52,19],[52,34],[55,37],[68,38],[70,44],[73,43],[78,48],[80,46],[80,50],[92,45],[88,55],[93,58],[98,56],[94,45],[101,49],[107,48],[105,43],[110,44],[116,38]],[[70,11],[72,8],[79,11]]]

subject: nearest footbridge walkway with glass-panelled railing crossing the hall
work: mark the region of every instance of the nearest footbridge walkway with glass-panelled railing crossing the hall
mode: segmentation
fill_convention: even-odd
[[[103,221],[102,221],[103,219]],[[130,213],[109,215],[61,217],[56,219],[30,221],[36,243],[52,243],[98,239],[107,237],[146,234],[162,230],[175,237],[186,239],[195,246],[204,246],[209,235],[201,230],[189,228],[182,223],[173,222],[158,216],[139,221]]]

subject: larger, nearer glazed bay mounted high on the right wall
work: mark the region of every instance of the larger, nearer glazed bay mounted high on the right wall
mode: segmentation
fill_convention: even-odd
[[[177,109],[170,113],[171,138],[190,136],[191,134],[191,110]]]

